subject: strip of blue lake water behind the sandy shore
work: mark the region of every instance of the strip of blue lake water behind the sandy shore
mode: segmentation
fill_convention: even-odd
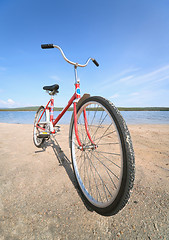
[[[0,111],[1,123],[33,124],[34,111]],[[56,117],[60,112],[55,112]],[[121,111],[127,124],[169,124],[169,111]],[[72,116],[67,111],[59,124],[69,124]]]

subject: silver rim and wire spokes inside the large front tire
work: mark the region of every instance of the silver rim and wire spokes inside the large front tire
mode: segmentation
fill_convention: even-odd
[[[86,134],[83,110],[96,149]],[[78,149],[72,134],[72,157],[77,181],[86,198],[96,207],[107,207],[117,197],[123,174],[120,136],[109,111],[98,102],[87,102],[78,111],[78,132],[85,150]]]

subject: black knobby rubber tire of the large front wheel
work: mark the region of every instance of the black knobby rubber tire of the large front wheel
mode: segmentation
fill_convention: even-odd
[[[131,190],[134,185],[134,179],[135,179],[135,156],[134,156],[134,150],[132,146],[132,141],[131,141],[131,136],[130,132],[128,130],[128,127],[120,113],[120,111],[115,107],[115,105],[110,102],[109,100],[100,97],[100,96],[95,96],[95,97],[89,97],[88,99],[85,99],[78,107],[77,111],[85,104],[87,101],[98,101],[101,102],[104,106],[106,106],[107,109],[109,109],[110,112],[112,112],[112,116],[116,126],[118,127],[118,131],[120,129],[120,132],[122,134],[122,139],[124,140],[124,145],[125,145],[125,151],[126,151],[126,159],[127,159],[127,171],[126,171],[126,182],[122,188],[123,192],[120,193],[121,198],[118,199],[116,203],[112,203],[111,206],[106,207],[105,209],[98,208],[92,206],[92,204],[88,201],[88,199],[85,197],[83,194],[82,190],[80,189],[80,186],[78,184],[78,187],[80,191],[82,192],[82,195],[85,197],[85,200],[87,200],[88,204],[99,214],[104,215],[104,216],[110,216],[118,213],[121,209],[124,208],[124,206],[127,204],[129,201],[130,195],[131,195]],[[71,124],[71,132],[73,130],[73,125]],[[76,176],[76,174],[75,174]],[[76,179],[77,180],[77,179]],[[114,206],[113,206],[114,205]]]

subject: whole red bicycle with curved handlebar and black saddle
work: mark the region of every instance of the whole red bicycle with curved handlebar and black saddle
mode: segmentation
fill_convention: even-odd
[[[77,68],[86,67],[68,60],[62,49],[53,44],[41,45],[43,49],[57,48],[63,58],[74,66],[75,93],[67,106],[54,119],[54,95],[59,85],[43,87],[51,99],[41,106],[35,116],[33,140],[42,147],[45,140],[60,131],[56,126],[73,104],[69,129],[69,147],[75,178],[87,203],[102,215],[112,215],[121,210],[130,197],[135,177],[135,158],[127,125],[118,109],[107,99],[89,94],[80,96]]]

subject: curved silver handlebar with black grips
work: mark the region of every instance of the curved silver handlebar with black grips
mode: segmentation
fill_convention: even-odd
[[[61,54],[62,54],[62,56],[63,56],[63,58],[65,59],[65,61],[68,62],[68,63],[70,63],[70,64],[72,64],[72,65],[74,65],[75,67],[86,67],[86,66],[88,65],[88,63],[89,63],[90,60],[92,60],[93,63],[94,63],[97,67],[99,66],[98,62],[97,62],[96,59],[94,59],[94,58],[89,58],[89,59],[86,61],[85,64],[79,64],[79,63],[72,62],[72,61],[70,61],[69,59],[66,58],[63,50],[62,50],[59,46],[57,46],[57,45],[53,45],[53,44],[42,44],[42,45],[41,45],[41,48],[42,48],[42,49],[48,49],[48,48],[57,48],[57,49],[59,49],[60,52],[61,52]]]

